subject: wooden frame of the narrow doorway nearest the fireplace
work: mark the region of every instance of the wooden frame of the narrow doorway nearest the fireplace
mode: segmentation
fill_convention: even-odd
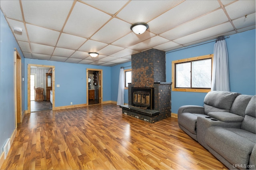
[[[102,80],[103,80],[103,70],[102,69],[86,69],[86,103],[87,105],[89,105],[89,94],[88,94],[88,77],[89,77],[89,74],[88,74],[88,71],[99,71],[100,73],[100,76],[99,76],[99,85],[100,85],[100,100],[99,100],[99,104],[102,104],[102,101],[103,101],[103,83],[102,83]]]

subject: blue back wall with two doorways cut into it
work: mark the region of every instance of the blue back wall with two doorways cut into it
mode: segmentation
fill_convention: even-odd
[[[111,67],[85,65],[76,63],[63,63],[25,58],[25,75],[28,72],[28,64],[40,64],[55,66],[55,107],[86,103],[87,84],[86,69],[102,69],[103,72],[103,101],[111,100]],[[56,85],[60,87],[56,87]],[[25,76],[25,109],[28,106],[27,76]]]

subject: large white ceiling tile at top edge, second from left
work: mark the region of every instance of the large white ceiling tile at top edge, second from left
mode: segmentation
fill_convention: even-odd
[[[70,0],[22,0],[21,2],[26,22],[58,31],[62,30],[73,4]]]

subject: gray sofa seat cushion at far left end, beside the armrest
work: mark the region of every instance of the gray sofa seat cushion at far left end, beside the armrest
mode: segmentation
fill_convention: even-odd
[[[180,113],[178,115],[178,123],[182,125],[182,127],[186,128],[192,134],[196,134],[196,122],[198,116],[206,116],[204,114],[196,114],[196,113]]]

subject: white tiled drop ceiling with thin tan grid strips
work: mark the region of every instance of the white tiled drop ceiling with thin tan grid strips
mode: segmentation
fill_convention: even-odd
[[[113,66],[255,28],[255,0],[0,0],[25,58]],[[134,34],[130,26],[149,29]],[[88,52],[98,52],[92,58]]]

